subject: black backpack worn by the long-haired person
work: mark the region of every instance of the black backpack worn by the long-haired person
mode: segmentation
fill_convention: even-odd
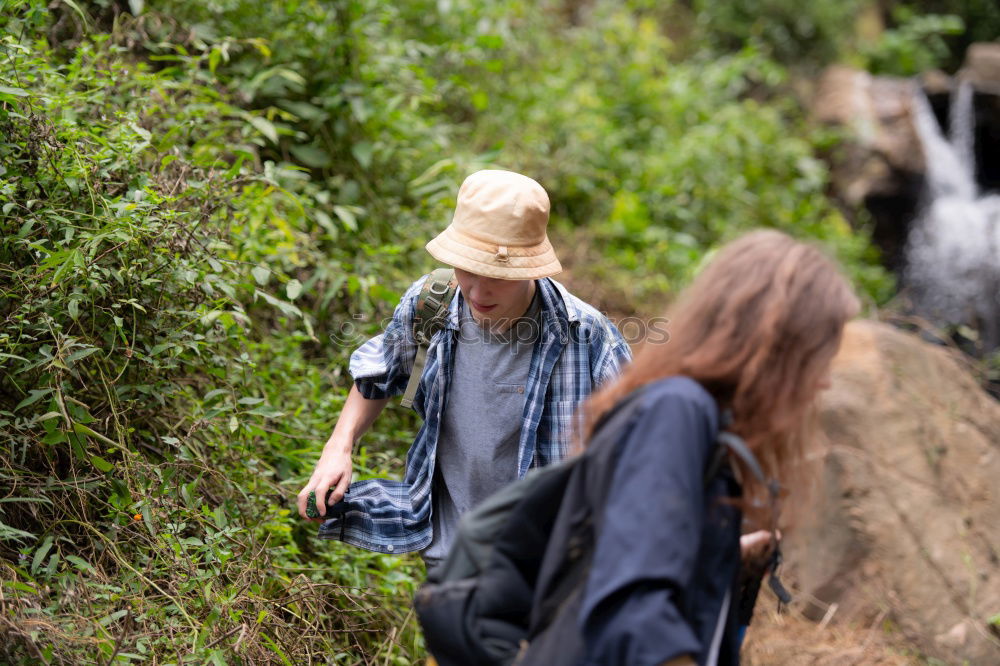
[[[601,512],[593,507],[607,498],[616,444],[637,416],[644,392],[619,403],[582,454],[531,470],[462,517],[447,559],[430,572],[414,600],[428,652],[440,666],[554,663],[544,656],[518,656],[529,641],[546,638],[540,635],[554,622],[575,618],[600,531]],[[733,451],[763,481],[742,439],[720,432],[718,442],[723,446],[711,457],[706,480]],[[756,587],[753,592],[756,596]],[[565,656],[579,647],[559,645],[556,634],[562,632],[552,628],[545,632],[551,640],[532,644],[532,653],[558,650]]]

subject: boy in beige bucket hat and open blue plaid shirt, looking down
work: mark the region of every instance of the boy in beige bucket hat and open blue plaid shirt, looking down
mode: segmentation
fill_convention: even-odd
[[[424,423],[405,477],[351,484],[351,451],[409,382],[428,276],[409,288],[385,332],[351,356],[354,387],[298,497],[306,517],[316,493],[327,518],[321,537],[384,553],[419,550],[430,568],[447,554],[462,513],[564,457],[574,410],[630,352],[606,317],[551,279],[562,267],[548,217],[548,195],[526,176],[487,170],[462,184],[451,224],[427,243],[454,268],[458,289],[415,385],[412,406]]]

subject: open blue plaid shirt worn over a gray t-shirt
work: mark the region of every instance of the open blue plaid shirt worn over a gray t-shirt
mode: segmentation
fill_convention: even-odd
[[[351,376],[364,397],[389,398],[402,395],[406,389],[417,351],[412,321],[426,278],[410,286],[385,332],[351,355]],[[541,333],[525,387],[519,478],[531,467],[565,457],[576,407],[596,386],[615,377],[631,358],[628,344],[604,315],[555,280],[545,278],[537,285]],[[461,305],[459,291],[449,307],[446,326],[434,334],[427,350],[427,365],[413,400],[423,425],[406,455],[403,481],[352,483],[344,500],[332,507],[335,517],[321,524],[320,537],[382,553],[423,550],[430,545],[434,462],[454,366]]]

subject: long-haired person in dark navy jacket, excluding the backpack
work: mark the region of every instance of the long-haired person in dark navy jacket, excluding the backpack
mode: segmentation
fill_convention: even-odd
[[[721,249],[647,343],[585,403],[586,446],[643,389],[618,438],[577,626],[585,664],[739,663],[740,535],[774,524],[747,464],[706,475],[720,430],[741,437],[780,505],[802,496],[815,397],[858,299],[815,247],[756,231]]]

